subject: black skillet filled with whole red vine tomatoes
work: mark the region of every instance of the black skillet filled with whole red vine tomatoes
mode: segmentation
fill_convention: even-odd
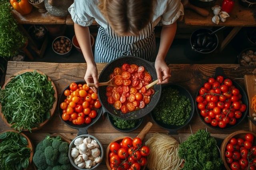
[[[246,92],[221,67],[200,87],[195,103],[200,119],[217,130],[236,127],[248,113]]]

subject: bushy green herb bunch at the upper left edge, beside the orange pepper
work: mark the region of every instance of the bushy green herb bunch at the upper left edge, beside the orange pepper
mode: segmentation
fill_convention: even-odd
[[[0,56],[14,56],[26,40],[12,16],[10,2],[0,0]]]

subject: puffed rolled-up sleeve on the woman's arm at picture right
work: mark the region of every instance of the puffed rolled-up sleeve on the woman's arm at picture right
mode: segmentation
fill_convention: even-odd
[[[183,5],[180,0],[167,0],[166,11],[162,14],[162,24],[170,25],[184,15]]]

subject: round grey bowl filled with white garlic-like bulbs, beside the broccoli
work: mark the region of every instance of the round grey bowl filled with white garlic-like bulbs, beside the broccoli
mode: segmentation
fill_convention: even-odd
[[[72,140],[68,158],[78,170],[93,170],[100,165],[104,149],[100,141],[90,134],[82,134]]]

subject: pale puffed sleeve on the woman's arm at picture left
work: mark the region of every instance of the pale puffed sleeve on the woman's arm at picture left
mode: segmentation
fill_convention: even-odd
[[[86,9],[89,9],[86,0],[74,0],[74,3],[68,8],[74,23],[80,26],[90,26],[94,18],[90,16]]]

